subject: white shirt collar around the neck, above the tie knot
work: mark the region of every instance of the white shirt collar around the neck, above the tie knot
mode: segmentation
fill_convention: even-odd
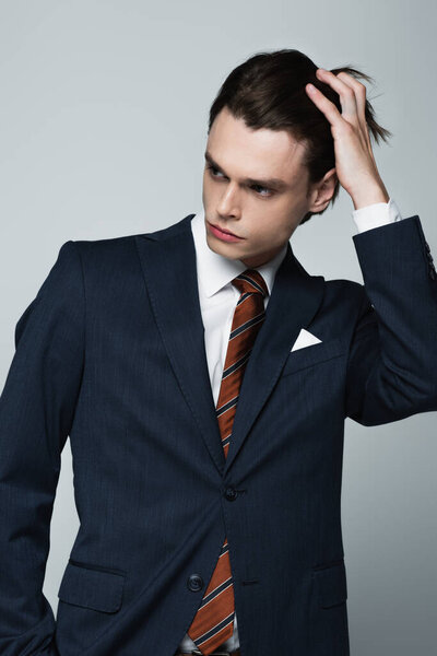
[[[241,260],[229,259],[209,247],[203,210],[191,219],[191,231],[194,239],[199,283],[205,296],[210,297],[223,286],[231,283],[236,276],[245,271],[248,267]],[[270,261],[261,267],[256,267],[257,271],[265,280],[269,295],[272,293],[274,277],[285,257],[286,249],[287,244],[284,244]]]

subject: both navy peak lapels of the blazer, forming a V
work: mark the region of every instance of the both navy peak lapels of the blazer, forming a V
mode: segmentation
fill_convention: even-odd
[[[246,365],[225,458],[204,348],[191,233],[193,215],[161,231],[135,235],[135,243],[152,312],[173,370],[211,458],[224,476],[274,387],[300,328],[306,328],[316,314],[324,279],[309,276],[288,243]]]

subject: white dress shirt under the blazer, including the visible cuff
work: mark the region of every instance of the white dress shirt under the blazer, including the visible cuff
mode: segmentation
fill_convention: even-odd
[[[378,227],[386,223],[402,219],[398,206],[390,198],[389,202],[377,202],[358,210],[353,210],[352,218],[358,232]],[[241,260],[228,259],[211,250],[206,243],[204,212],[198,212],[191,220],[191,231],[196,247],[199,301],[204,326],[204,343],[214,405],[218,399],[223,366],[226,358],[234,309],[240,292],[232,284],[232,280],[248,267]],[[281,265],[286,244],[267,263],[257,267],[265,280],[269,294],[264,296],[264,308],[269,303],[276,270]],[[232,549],[232,546],[229,547]],[[199,598],[200,599],[200,598]],[[234,633],[222,643],[217,651],[233,652],[239,647],[237,613],[234,616]],[[190,653],[196,644],[188,633],[179,644],[180,652]]]

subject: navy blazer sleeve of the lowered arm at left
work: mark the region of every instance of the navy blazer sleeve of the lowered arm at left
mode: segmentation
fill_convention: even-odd
[[[56,654],[43,595],[61,452],[84,361],[84,285],[66,242],[15,326],[0,397],[0,654]]]

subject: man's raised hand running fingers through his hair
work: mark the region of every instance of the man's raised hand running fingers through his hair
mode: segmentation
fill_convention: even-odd
[[[305,91],[331,124],[334,140],[335,173],[351,196],[355,210],[375,202],[388,202],[390,196],[379,176],[365,118],[366,87],[344,71],[338,75],[317,69],[317,78],[340,96],[342,113],[312,84]]]

